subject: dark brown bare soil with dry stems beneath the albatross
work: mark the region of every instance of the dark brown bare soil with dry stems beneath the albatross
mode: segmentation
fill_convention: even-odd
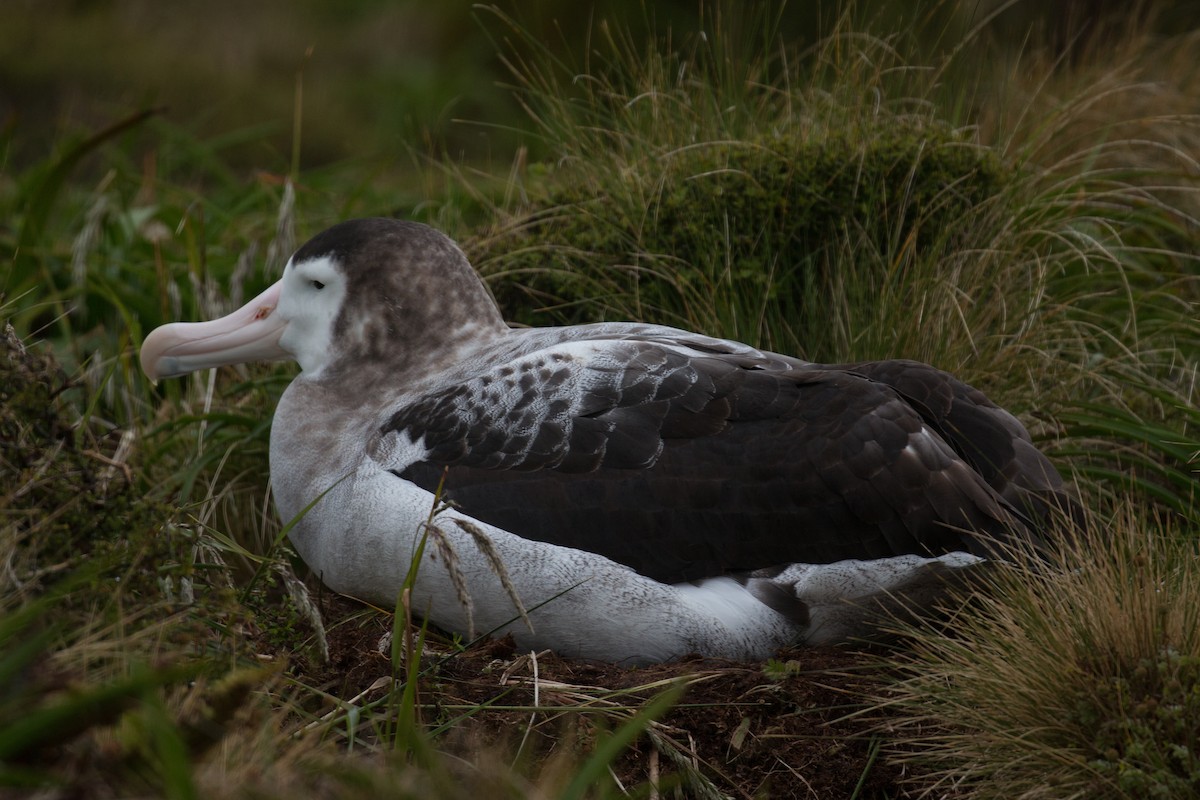
[[[342,698],[376,686],[365,699],[382,697],[379,679],[392,674],[390,618],[342,597],[323,601],[323,610],[330,661],[295,663],[305,682]],[[427,724],[455,720],[438,746],[461,756],[502,742],[534,759],[569,748],[586,758],[601,732],[683,679],[683,696],[652,726],[655,741],[638,736],[613,764],[624,787],[653,782],[665,798],[916,796],[911,770],[880,752],[886,712],[869,697],[887,682],[882,655],[810,648],[766,664],[690,657],[630,668],[520,654],[511,639],[460,651],[430,644],[420,700]],[[488,705],[458,718],[464,708]]]

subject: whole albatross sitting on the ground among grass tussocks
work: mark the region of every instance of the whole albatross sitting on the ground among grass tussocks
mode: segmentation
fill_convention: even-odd
[[[872,606],[930,602],[1073,504],[1012,414],[932,366],[510,327],[455,242],[414,222],[337,224],[240,311],[142,348],[151,379],[281,359],[301,371],[271,486],[320,581],[391,606],[419,558],[430,622],[568,657],[862,636]],[[419,548],[434,510],[439,546]]]

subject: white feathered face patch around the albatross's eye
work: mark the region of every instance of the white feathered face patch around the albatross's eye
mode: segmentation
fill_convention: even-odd
[[[283,267],[283,289],[275,313],[287,323],[280,347],[300,368],[316,377],[325,368],[334,341],[334,323],[346,299],[346,278],[337,261],[320,258]]]

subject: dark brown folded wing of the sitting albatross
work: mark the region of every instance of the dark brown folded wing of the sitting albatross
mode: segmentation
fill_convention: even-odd
[[[385,429],[425,435],[427,461],[400,475],[432,491],[449,468],[463,512],[678,582],[1031,535],[976,467],[1006,475],[1027,434],[971,392],[923,365],[619,342],[534,354]]]

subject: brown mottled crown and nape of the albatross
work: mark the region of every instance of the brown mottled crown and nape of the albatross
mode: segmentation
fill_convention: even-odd
[[[506,330],[467,257],[428,225],[374,217],[350,219],[313,236],[293,263],[330,257],[347,281],[334,326],[344,360],[427,362],[463,339]]]

